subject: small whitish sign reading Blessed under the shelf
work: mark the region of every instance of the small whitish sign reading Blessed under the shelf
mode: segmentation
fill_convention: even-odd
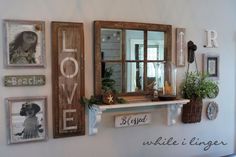
[[[125,114],[115,116],[115,127],[131,127],[149,124],[151,113]]]

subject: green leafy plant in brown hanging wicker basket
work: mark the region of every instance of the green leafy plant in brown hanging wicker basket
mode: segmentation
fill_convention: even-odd
[[[189,72],[181,87],[182,96],[190,99],[183,106],[182,121],[184,123],[196,123],[201,121],[202,99],[215,98],[219,87],[213,80],[208,79],[206,74]]]

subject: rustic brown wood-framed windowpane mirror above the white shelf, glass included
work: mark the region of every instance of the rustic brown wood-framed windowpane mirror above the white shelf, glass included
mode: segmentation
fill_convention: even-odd
[[[163,87],[171,61],[171,25],[95,21],[95,95],[109,88],[119,96],[144,95]]]

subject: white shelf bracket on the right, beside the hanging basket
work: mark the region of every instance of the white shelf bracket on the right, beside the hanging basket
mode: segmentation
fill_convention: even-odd
[[[167,106],[167,125],[172,126],[176,123],[178,116],[181,113],[183,104],[169,104]]]

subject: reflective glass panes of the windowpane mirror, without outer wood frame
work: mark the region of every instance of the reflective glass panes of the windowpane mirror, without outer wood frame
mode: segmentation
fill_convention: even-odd
[[[155,84],[155,88],[162,88],[164,66],[161,62],[164,60],[164,32],[147,32],[146,59],[144,57],[144,31],[125,30],[125,34],[125,60],[122,61],[122,30],[101,30],[103,90],[106,90],[107,84],[114,84],[114,88],[118,93],[122,91],[126,93],[143,91],[144,64],[147,67],[147,86]],[[122,63],[125,63],[125,65],[122,65]],[[122,73],[122,66],[125,66],[124,74]],[[124,86],[122,86],[122,82]]]

